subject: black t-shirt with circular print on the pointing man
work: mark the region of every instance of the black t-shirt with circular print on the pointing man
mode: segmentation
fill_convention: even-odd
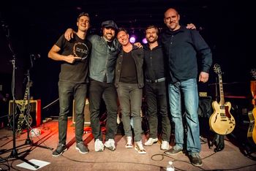
[[[59,80],[71,83],[86,83],[86,77],[89,72],[89,56],[91,54],[91,42],[87,39],[80,39],[76,34],[73,39],[67,41],[64,35],[61,35],[56,45],[61,48],[61,55],[78,56],[81,59],[76,60],[73,64],[63,62]]]

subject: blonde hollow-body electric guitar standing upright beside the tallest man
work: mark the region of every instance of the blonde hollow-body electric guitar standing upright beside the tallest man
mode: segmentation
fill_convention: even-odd
[[[230,113],[231,103],[225,102],[224,91],[222,85],[222,72],[219,64],[214,64],[214,72],[217,73],[219,77],[219,96],[220,101],[212,102],[212,107],[214,108],[214,113],[211,114],[209,118],[209,125],[212,131],[217,134],[230,134],[233,132],[236,126],[235,118]]]

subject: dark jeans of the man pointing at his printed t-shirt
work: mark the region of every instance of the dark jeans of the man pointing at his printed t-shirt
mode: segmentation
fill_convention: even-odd
[[[75,139],[83,141],[83,109],[86,102],[86,83],[68,83],[59,81],[59,143],[66,144],[67,115],[72,110],[75,99]]]

